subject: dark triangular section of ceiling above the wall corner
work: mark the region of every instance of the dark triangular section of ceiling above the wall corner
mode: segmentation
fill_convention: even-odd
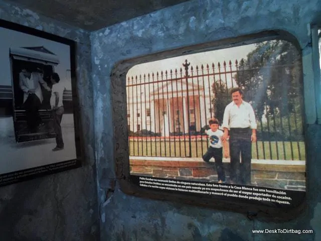
[[[11,0],[64,23],[95,31],[189,0]]]

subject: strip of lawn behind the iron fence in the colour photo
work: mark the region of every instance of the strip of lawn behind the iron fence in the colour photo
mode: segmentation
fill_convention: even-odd
[[[206,140],[191,142],[192,157],[202,157],[207,151]],[[189,142],[129,141],[130,156],[188,157]],[[278,151],[276,151],[278,150]],[[291,151],[292,150],[292,151]],[[292,157],[293,156],[293,157]],[[253,159],[305,160],[304,142],[257,142],[252,144]]]

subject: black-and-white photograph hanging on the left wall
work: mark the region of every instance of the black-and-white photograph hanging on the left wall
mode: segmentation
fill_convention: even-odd
[[[0,184],[73,166],[70,45],[3,27],[0,36]]]

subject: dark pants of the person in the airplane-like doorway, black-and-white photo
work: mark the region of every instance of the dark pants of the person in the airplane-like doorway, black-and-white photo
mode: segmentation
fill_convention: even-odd
[[[27,125],[32,132],[35,132],[42,122],[39,114],[40,106],[41,101],[38,96],[30,93],[24,103],[24,108],[26,109]]]

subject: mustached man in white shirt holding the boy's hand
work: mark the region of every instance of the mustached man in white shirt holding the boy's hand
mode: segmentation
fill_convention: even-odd
[[[251,142],[256,142],[257,128],[255,113],[251,104],[243,100],[242,89],[233,88],[231,95],[233,101],[225,107],[222,125],[222,140],[229,136],[230,179],[232,183],[251,185]]]

